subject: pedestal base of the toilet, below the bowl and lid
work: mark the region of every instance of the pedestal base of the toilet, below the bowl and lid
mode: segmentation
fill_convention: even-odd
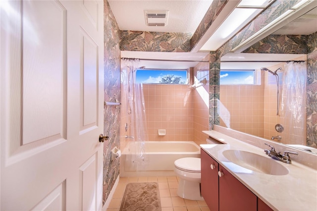
[[[183,199],[204,201],[204,198],[201,196],[199,182],[180,179],[178,182],[177,195]]]

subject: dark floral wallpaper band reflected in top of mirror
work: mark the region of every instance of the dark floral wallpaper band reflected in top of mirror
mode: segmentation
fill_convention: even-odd
[[[243,53],[307,54],[306,35],[269,35]]]

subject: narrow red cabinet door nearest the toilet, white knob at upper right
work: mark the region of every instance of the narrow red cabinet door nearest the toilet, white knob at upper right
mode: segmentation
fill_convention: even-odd
[[[211,169],[211,165],[212,168]],[[218,163],[201,149],[202,196],[211,211],[219,210]]]

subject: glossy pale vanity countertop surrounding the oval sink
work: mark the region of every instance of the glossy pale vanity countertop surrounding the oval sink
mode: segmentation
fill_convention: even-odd
[[[224,144],[202,144],[200,147],[270,208],[276,211],[317,211],[316,169],[294,160],[291,164],[287,164],[271,158],[285,166],[289,173],[269,175],[242,167],[237,170],[236,165],[222,155],[223,151],[242,150],[269,158],[264,152],[264,149],[269,147],[263,146],[261,149],[213,130],[203,132]],[[290,155],[291,159],[292,156],[295,155]]]

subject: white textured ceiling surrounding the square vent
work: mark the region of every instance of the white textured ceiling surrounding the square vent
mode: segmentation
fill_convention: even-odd
[[[212,0],[108,0],[120,30],[193,33]],[[166,26],[147,26],[144,10],[169,10]]]

